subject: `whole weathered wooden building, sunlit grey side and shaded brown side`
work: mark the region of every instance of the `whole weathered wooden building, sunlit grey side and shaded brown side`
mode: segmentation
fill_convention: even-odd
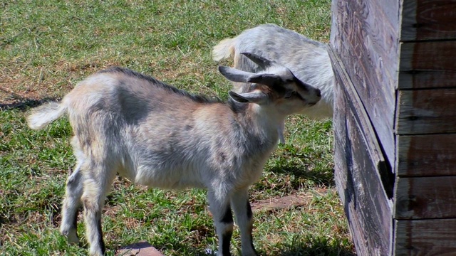
[[[358,255],[456,255],[456,1],[333,0],[335,176]]]

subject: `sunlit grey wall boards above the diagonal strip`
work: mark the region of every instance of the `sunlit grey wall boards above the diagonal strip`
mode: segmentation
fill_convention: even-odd
[[[398,82],[398,1],[334,0],[331,44],[366,107],[388,161],[394,162]],[[380,22],[379,22],[380,21]]]

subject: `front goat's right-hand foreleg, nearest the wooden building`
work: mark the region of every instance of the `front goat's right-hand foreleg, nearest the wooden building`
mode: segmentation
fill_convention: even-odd
[[[235,191],[231,197],[231,205],[236,216],[236,223],[241,231],[242,255],[257,255],[252,239],[253,213],[249,203],[249,188]]]

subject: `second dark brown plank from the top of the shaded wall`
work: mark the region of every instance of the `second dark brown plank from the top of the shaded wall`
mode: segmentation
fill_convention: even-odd
[[[456,87],[455,59],[456,41],[402,43],[399,89]]]

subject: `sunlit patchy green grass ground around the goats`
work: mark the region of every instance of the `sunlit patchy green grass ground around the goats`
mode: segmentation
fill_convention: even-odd
[[[0,4],[0,255],[86,255],[58,234],[73,167],[68,120],[28,129],[30,107],[59,99],[90,73],[122,65],[190,92],[226,98],[210,50],[261,23],[328,41],[329,0],[9,1]],[[230,63],[224,63],[229,65]],[[331,121],[290,117],[287,143],[251,188],[257,202],[296,194],[303,206],[254,213],[261,255],[353,255],[333,183]],[[108,255],[147,240],[165,255],[207,255],[217,247],[202,190],[162,191],[115,181],[104,210]],[[78,224],[83,236],[83,224]],[[84,240],[83,240],[84,241]],[[239,250],[234,233],[233,252]],[[86,245],[86,244],[84,244]]]

